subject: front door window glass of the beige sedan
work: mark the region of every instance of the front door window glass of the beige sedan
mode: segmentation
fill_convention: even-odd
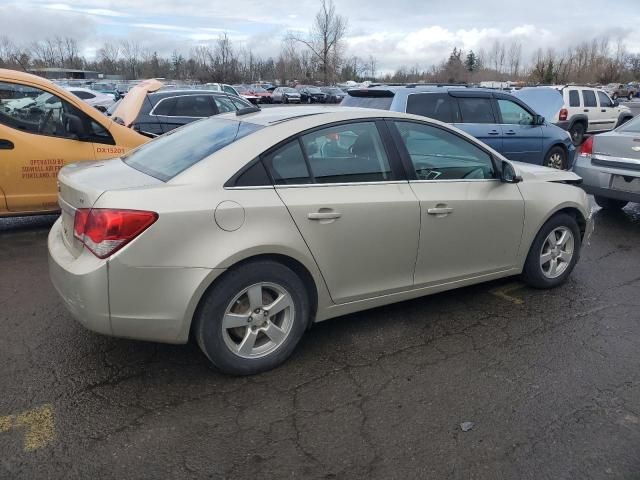
[[[418,180],[495,178],[491,156],[468,140],[421,123],[396,125]]]

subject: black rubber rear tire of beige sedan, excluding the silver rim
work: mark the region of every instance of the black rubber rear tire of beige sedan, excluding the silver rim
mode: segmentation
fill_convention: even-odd
[[[222,319],[230,302],[240,292],[260,282],[277,284],[289,293],[293,302],[293,321],[288,336],[273,352],[259,358],[243,358],[227,346]],[[205,293],[194,322],[198,345],[218,370],[231,375],[253,375],[271,370],[289,358],[309,323],[309,297],[302,280],[285,265],[271,260],[249,262],[226,272]]]

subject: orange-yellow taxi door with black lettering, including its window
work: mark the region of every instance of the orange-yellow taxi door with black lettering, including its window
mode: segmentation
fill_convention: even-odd
[[[0,82],[0,102],[0,189],[7,210],[57,210],[58,171],[94,160],[88,139],[104,129],[66,100],[28,85]]]

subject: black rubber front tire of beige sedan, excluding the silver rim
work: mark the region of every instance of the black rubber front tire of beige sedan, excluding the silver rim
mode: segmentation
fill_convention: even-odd
[[[573,233],[573,257],[571,258],[567,268],[560,276],[556,278],[548,278],[542,271],[542,265],[540,265],[540,254],[545,240],[549,234],[558,227],[567,227]],[[566,213],[558,213],[554,215],[542,226],[531,244],[527,260],[524,264],[524,269],[522,270],[522,280],[527,285],[540,289],[554,288],[563,284],[580,258],[581,245],[582,239],[580,237],[580,229],[578,228],[576,219]]]

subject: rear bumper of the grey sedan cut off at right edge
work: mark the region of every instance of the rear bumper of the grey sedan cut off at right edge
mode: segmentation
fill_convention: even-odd
[[[640,171],[593,165],[591,158],[581,155],[576,155],[573,171],[582,177],[580,186],[591,195],[640,203],[640,193],[628,192],[613,187],[614,177],[622,176],[640,179]]]

